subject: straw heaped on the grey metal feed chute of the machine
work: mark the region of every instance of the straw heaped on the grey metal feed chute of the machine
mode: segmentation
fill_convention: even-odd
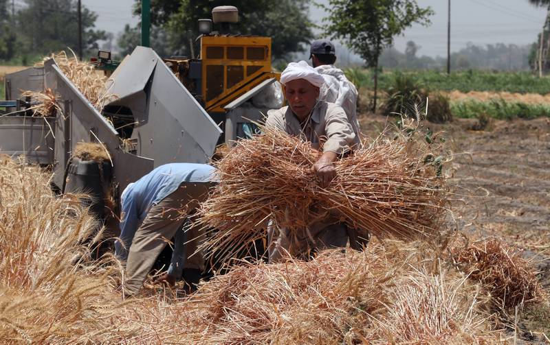
[[[44,58],[43,61],[53,58],[65,76],[80,90],[80,93],[88,99],[94,108],[102,112],[104,106],[117,98],[109,93],[105,86],[107,77],[97,73],[94,64],[79,61],[73,51],[72,54],[73,57],[69,58],[65,51],[60,51]]]

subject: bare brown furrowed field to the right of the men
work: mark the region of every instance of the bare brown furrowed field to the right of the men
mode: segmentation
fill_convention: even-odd
[[[385,121],[364,115],[361,126],[373,135]],[[453,147],[451,181],[464,195],[454,202],[459,227],[505,239],[527,257],[550,257],[550,119],[499,120],[485,131],[471,130],[476,121],[426,124],[444,130]],[[550,260],[538,266],[548,289]]]

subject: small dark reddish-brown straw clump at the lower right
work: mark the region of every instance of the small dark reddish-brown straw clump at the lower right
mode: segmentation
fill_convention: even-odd
[[[544,298],[533,267],[520,252],[498,239],[489,238],[452,246],[451,257],[460,270],[481,282],[503,309]]]

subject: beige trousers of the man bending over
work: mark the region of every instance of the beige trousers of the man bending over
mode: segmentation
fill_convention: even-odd
[[[176,191],[151,207],[140,228],[135,232],[129,250],[124,282],[125,295],[133,295],[140,291],[166,243],[181,230],[188,215],[208,197],[208,187],[208,183],[184,182]],[[199,228],[191,227],[187,230],[185,268],[204,270],[203,253],[195,253],[203,241],[203,236]]]

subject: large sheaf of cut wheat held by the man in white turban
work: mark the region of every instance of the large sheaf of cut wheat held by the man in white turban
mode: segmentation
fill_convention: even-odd
[[[239,244],[265,236],[269,220],[293,230],[329,213],[381,238],[434,239],[447,214],[448,194],[432,150],[410,132],[397,139],[381,136],[338,160],[338,175],[323,189],[312,169],[320,152],[266,129],[214,163],[220,182],[199,222],[219,230],[208,246],[232,248],[226,258]]]

